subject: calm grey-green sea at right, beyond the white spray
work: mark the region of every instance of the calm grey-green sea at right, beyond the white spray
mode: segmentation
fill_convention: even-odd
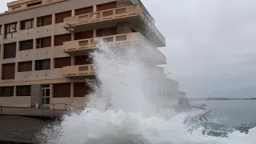
[[[211,123],[214,126],[231,130],[247,132],[256,127],[256,101],[193,101],[191,105],[206,104],[208,110],[213,110]]]

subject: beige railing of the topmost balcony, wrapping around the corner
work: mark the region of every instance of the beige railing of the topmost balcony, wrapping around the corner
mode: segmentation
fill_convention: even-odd
[[[90,14],[82,14],[69,18],[64,18],[64,22],[67,24],[64,26],[67,30],[75,30],[76,26],[84,26],[86,24],[94,22],[102,22],[110,19],[128,18],[131,16],[139,16],[142,21],[150,27],[150,29],[161,39],[161,42],[166,43],[166,39],[160,33],[158,28],[154,26],[154,21],[146,12],[142,10],[139,5],[130,5],[124,7],[118,7],[110,10],[102,10]],[[136,21],[136,20],[135,20]]]

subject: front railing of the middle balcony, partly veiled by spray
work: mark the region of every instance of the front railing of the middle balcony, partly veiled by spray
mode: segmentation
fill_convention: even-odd
[[[128,33],[128,34],[115,34],[106,37],[88,38],[77,41],[64,42],[64,52],[73,54],[82,51],[95,49],[97,46],[97,40],[102,40],[106,45],[118,45],[118,44],[130,44],[132,42],[142,41],[142,34],[140,33]],[[144,38],[146,39],[146,38]]]

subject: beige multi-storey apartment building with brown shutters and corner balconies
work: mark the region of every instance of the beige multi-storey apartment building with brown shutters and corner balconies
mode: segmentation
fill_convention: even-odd
[[[95,38],[150,46],[149,65],[166,64],[166,40],[139,0],[18,0],[0,14],[0,106],[82,106],[95,79]]]

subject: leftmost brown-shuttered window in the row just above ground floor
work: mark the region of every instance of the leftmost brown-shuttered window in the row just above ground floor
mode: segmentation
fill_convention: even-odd
[[[2,80],[15,78],[15,63],[2,65]]]

